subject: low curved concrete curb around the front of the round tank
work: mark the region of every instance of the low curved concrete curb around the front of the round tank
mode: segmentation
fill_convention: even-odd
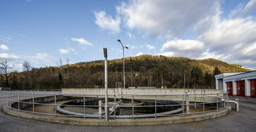
[[[157,124],[178,124],[193,121],[203,121],[206,119],[214,119],[223,117],[231,112],[231,105],[227,105],[224,110],[217,112],[207,112],[205,114],[191,114],[189,116],[173,116],[173,117],[157,117],[157,118],[143,118],[143,119],[113,119],[110,121],[104,121],[104,119],[91,119],[91,118],[79,118],[79,117],[56,117],[43,114],[32,114],[27,112],[18,112],[12,110],[6,105],[3,107],[4,112],[16,117],[22,117],[26,119],[35,119],[39,121],[49,121],[60,124],[75,124],[75,125],[88,125],[88,126],[133,126],[133,125],[157,125]]]

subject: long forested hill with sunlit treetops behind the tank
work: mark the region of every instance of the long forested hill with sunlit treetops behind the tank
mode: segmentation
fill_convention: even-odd
[[[221,72],[247,72],[241,65],[231,65],[212,58],[191,60],[162,55],[140,55],[125,58],[126,88],[155,86],[183,88],[184,71],[186,88],[214,88],[214,74]],[[108,84],[116,87],[123,82],[123,60],[109,60]],[[5,86],[1,77],[0,86]],[[104,86],[104,61],[78,62],[60,67],[32,68],[26,72],[8,74],[12,89],[48,88],[102,88]]]

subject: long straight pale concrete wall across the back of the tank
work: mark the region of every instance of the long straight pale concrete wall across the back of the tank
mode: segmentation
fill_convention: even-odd
[[[185,89],[185,91],[189,91],[190,101],[202,102],[203,96],[202,94],[214,94],[214,95],[205,95],[205,102],[211,102],[217,100],[217,94],[221,93],[222,90],[217,89]],[[63,95],[91,95],[95,97],[95,95],[101,95],[104,97],[104,88],[62,88]],[[183,100],[184,89],[183,88],[165,88],[165,89],[149,89],[149,88],[109,88],[108,89],[109,97],[116,98],[134,98],[138,99],[155,99],[158,100]],[[200,94],[200,95],[193,95]],[[139,95],[147,95],[147,96],[139,96]],[[159,95],[159,96],[154,96]],[[160,96],[161,95],[161,96]],[[223,94],[219,94],[219,98],[222,98]]]

